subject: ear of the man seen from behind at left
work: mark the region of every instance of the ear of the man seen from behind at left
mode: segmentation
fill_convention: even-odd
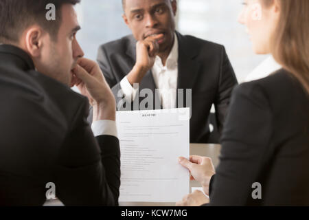
[[[32,57],[41,56],[43,47],[43,30],[33,26],[25,32],[25,47]]]

